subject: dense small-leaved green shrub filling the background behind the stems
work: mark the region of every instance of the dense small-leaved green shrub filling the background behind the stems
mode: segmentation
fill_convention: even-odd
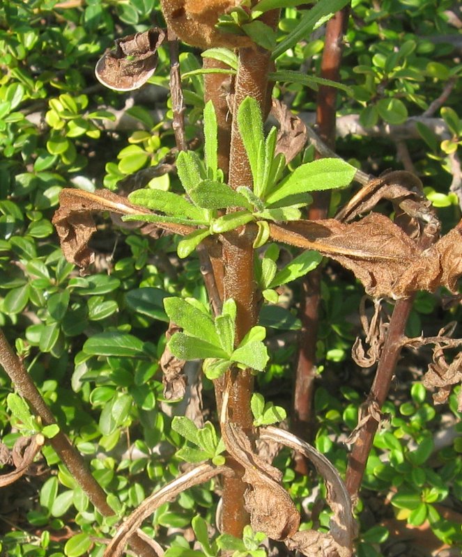
[[[220,316],[221,321],[204,313],[208,300],[194,253],[202,236],[187,240],[175,235],[149,237],[139,233],[136,225],[113,223],[103,216],[98,220],[98,233],[93,240],[98,256],[91,275],[79,276],[63,257],[51,224],[59,191],[63,187],[86,191],[106,187],[128,194],[128,189],[120,187],[121,180],[160,163],[175,145],[167,49],[160,49],[160,62],[150,79],[151,85],[146,86],[146,95],[109,91],[98,84],[93,72],[98,58],[112,46],[114,38],[144,31],[153,21],[162,26],[157,2],[87,0],[78,4],[4,0],[0,6],[0,326],[24,359],[62,429],[86,456],[94,476],[109,495],[112,508],[122,517],[155,487],[175,478],[183,460],[212,458],[216,464],[222,462],[223,448],[212,425],[217,416],[209,379],[220,375],[229,361],[259,370],[265,367],[268,356],[262,327],[255,327],[259,330],[254,331],[254,338],[245,339],[234,351],[232,339],[227,339],[231,347],[220,348],[220,354],[216,346],[215,352],[197,354],[194,352],[197,342],[188,345],[190,341],[185,341],[190,338],[188,320],[180,323],[178,317],[189,304],[184,299],[196,300],[187,308],[194,312],[190,318],[197,320],[202,315],[204,326],[208,327],[202,340],[210,343],[214,327],[217,330],[222,327],[223,331],[233,324],[232,307],[225,308],[227,313],[224,311]],[[341,66],[341,83],[350,89],[339,89],[338,97],[339,116],[357,116],[358,125],[365,130],[345,134],[338,143],[339,155],[353,166],[378,175],[387,168],[402,168],[396,146],[409,140],[405,150],[422,177],[426,195],[438,207],[445,230],[461,217],[456,191],[449,189],[462,144],[462,87],[457,81],[462,73],[458,63],[461,35],[448,19],[447,10],[451,9],[449,1],[385,0],[379,7],[367,0],[353,1]],[[305,10],[295,8],[282,10],[275,34],[279,44],[304,13]],[[182,49],[182,71],[190,72],[183,86],[186,135],[192,141],[203,137],[203,77],[195,72],[201,68],[201,56],[191,47],[183,45]],[[308,76],[318,74],[322,49],[323,36],[314,31],[284,49],[276,60],[278,81],[273,95],[293,111],[307,113],[316,109],[316,82],[291,72],[301,68]],[[223,58],[225,54],[211,55]],[[232,71],[234,58],[231,53],[226,55]],[[371,132],[372,127],[382,124],[406,127],[409,118],[422,116],[452,81],[452,93],[430,115],[440,118],[439,132],[425,118],[417,123],[417,132],[404,134],[401,136],[404,139],[393,132],[387,134],[383,126],[378,132]],[[246,108],[252,111],[252,107]],[[209,122],[210,118],[209,115]],[[255,121],[254,114],[248,118],[248,122]],[[245,115],[242,122],[245,127]],[[252,139],[249,130],[249,143],[261,141],[263,149],[270,150],[274,132],[263,140],[261,127],[248,127],[256,136]],[[210,135],[210,128],[205,134]],[[246,148],[250,157],[252,146]],[[148,189],[133,194],[131,201],[147,205],[148,198],[150,203],[160,203],[159,200],[166,199],[166,192],[181,193],[183,187],[187,189],[187,173],[182,173],[182,168],[188,165],[190,168],[195,159],[202,159],[201,150],[199,147],[197,154],[181,155],[179,178],[176,173],[153,178]],[[211,152],[206,153],[208,163]],[[185,160],[188,157],[192,161]],[[305,164],[313,157],[314,148],[307,148],[288,165],[288,171],[307,168]],[[228,205],[215,207],[213,199],[208,198],[208,205],[204,206],[200,187],[193,180],[194,188],[188,193],[196,205],[190,204],[191,215],[197,217],[198,207],[203,209],[199,217],[202,215],[210,225],[210,213],[216,208],[247,207],[240,215],[244,220],[239,222],[229,223],[224,217],[220,221],[215,215],[211,225],[215,226],[215,233],[251,219],[298,219],[301,205],[282,203],[286,198],[284,190],[275,192],[268,182],[271,176],[276,183],[288,175],[275,161],[270,158],[270,166],[273,163],[275,166],[262,174],[266,178],[262,178],[260,191],[256,192],[257,200],[246,191],[239,191],[233,194],[240,197],[229,200]],[[210,164],[201,171],[205,173],[201,179],[208,180],[208,187],[215,185],[217,198],[222,201],[222,176],[216,163],[211,171]],[[290,176],[296,177],[297,171]],[[300,193],[301,190],[291,189],[291,180],[286,178],[284,182],[288,191]],[[350,178],[346,183],[349,181]],[[351,191],[344,187],[334,191],[332,213],[349,196]],[[277,209],[272,205],[277,205]],[[176,209],[172,207],[172,211]],[[383,211],[387,210],[383,205]],[[265,246],[259,260],[256,276],[268,301],[261,310],[259,325],[266,327],[268,340],[300,329],[297,317],[300,288],[296,279],[320,258],[305,252],[293,260],[290,271],[282,268],[282,262],[298,255],[295,250],[279,250],[272,244]],[[347,450],[343,441],[357,423],[358,409],[371,377],[358,370],[350,356],[359,334],[355,320],[362,287],[337,265],[328,264],[327,271],[322,285],[318,340],[320,375],[315,396],[318,427],[315,445],[344,472]],[[408,322],[409,336],[418,336],[422,330],[427,336],[436,335],[447,323],[460,320],[459,304],[442,310],[445,295],[447,292],[436,295],[422,292],[417,296]],[[169,302],[164,308],[166,298]],[[180,347],[185,352],[181,356],[214,358],[206,368],[208,378],[203,380],[204,414],[209,422],[203,428],[205,432],[197,437],[197,448],[185,445],[183,439],[194,443],[197,432],[190,432],[191,438],[187,437],[185,430],[189,424],[181,423],[178,417],[172,421],[176,404],[164,400],[159,359],[166,344],[167,314],[185,329]],[[456,332],[455,336],[461,335]],[[217,343],[210,344],[213,345]],[[270,347],[268,352],[269,363],[265,373],[259,375],[258,385],[265,399],[272,402],[256,395],[252,404],[256,425],[272,423],[291,411],[288,401],[295,346],[288,343],[283,348]],[[435,407],[431,393],[419,382],[431,352],[409,351],[405,355],[398,384],[385,409],[387,422],[376,435],[364,478],[366,496],[359,506],[360,556],[386,554],[380,544],[386,547],[389,532],[378,523],[393,515],[413,526],[429,521],[435,539],[450,545],[462,543],[460,524],[447,518],[441,506],[461,512],[461,438],[455,437],[439,451],[438,457],[434,454],[433,439],[446,423],[460,419],[456,395],[451,395],[449,404]],[[41,429],[40,423],[29,419],[21,401],[11,396],[13,391],[14,386],[1,371],[0,439],[8,447],[23,433]],[[454,427],[460,434],[460,422]],[[180,452],[176,453],[178,449]],[[24,506],[15,503],[20,514],[14,525],[8,515],[4,521],[0,516],[0,551],[8,556],[77,557],[87,551],[92,557],[102,555],[105,546],[96,540],[110,537],[116,519],[103,519],[93,510],[50,446],[45,447],[43,455],[47,473],[34,478],[36,494],[32,502]],[[192,460],[194,457],[196,461]],[[300,504],[307,499],[314,480],[295,475],[288,452],[279,454],[277,465],[284,471],[284,487],[295,501]],[[8,489],[9,497],[17,499],[15,484]],[[1,498],[0,491],[0,501]],[[194,487],[176,502],[162,505],[144,529],[171,547],[167,554],[170,557],[211,556],[226,543],[226,547],[240,551],[238,555],[264,556],[265,550],[259,549],[263,540],[252,532],[246,532],[242,542],[207,540],[206,523],[200,517],[213,524],[217,499],[210,484]],[[377,511],[371,519],[369,499],[387,499],[391,505]],[[309,501],[312,505],[313,501]],[[364,509],[369,511],[361,514]],[[321,510],[318,517],[321,527],[327,528],[328,517],[328,511]],[[202,550],[182,553],[175,548],[192,546],[183,535],[169,528],[186,528],[191,523]],[[66,532],[61,536],[65,527],[75,535],[70,537]]]

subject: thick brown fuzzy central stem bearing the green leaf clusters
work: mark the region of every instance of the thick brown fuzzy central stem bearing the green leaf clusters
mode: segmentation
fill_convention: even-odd
[[[279,17],[278,11],[266,14],[265,23],[275,24]],[[233,125],[231,130],[231,155],[229,164],[229,185],[236,189],[239,186],[252,184],[252,172],[245,152],[237,124],[236,113],[245,97],[256,99],[262,111],[268,101],[268,68],[270,52],[263,49],[242,48],[239,52],[239,66],[236,77],[236,93],[234,96]],[[224,297],[236,301],[236,343],[256,324],[257,295],[254,281],[254,251],[252,237],[246,228],[232,230],[224,235]],[[229,388],[228,416],[247,434],[252,430],[252,398],[254,381],[250,370],[228,370],[225,384]],[[231,459],[230,459],[231,460]],[[240,537],[242,529],[248,524],[249,517],[244,506],[246,485],[240,476],[243,470],[237,462],[229,462],[236,476],[224,478],[223,485],[223,530]]]

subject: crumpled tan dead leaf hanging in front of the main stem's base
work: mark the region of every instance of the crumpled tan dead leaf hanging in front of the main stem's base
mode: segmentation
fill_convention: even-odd
[[[272,540],[285,540],[295,534],[300,514],[281,485],[282,472],[254,453],[238,425],[224,423],[222,435],[226,450],[245,469],[242,480],[249,485],[245,508],[254,532],[264,532]]]

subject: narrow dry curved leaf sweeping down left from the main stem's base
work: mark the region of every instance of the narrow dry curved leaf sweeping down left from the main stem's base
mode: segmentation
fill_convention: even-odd
[[[122,554],[125,544],[130,536],[136,533],[141,523],[148,518],[153,512],[168,501],[172,501],[185,489],[189,489],[194,485],[207,482],[218,474],[231,473],[226,466],[212,466],[211,464],[200,464],[193,470],[185,472],[167,485],[164,485],[158,492],[147,497],[132,514],[123,521],[118,527],[116,535],[106,548],[104,557],[119,557]]]

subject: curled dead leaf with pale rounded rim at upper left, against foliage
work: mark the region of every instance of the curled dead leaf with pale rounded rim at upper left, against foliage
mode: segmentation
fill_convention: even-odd
[[[157,49],[165,33],[153,27],[116,39],[115,50],[107,50],[95,67],[98,81],[114,91],[132,91],[141,87],[157,68]]]

